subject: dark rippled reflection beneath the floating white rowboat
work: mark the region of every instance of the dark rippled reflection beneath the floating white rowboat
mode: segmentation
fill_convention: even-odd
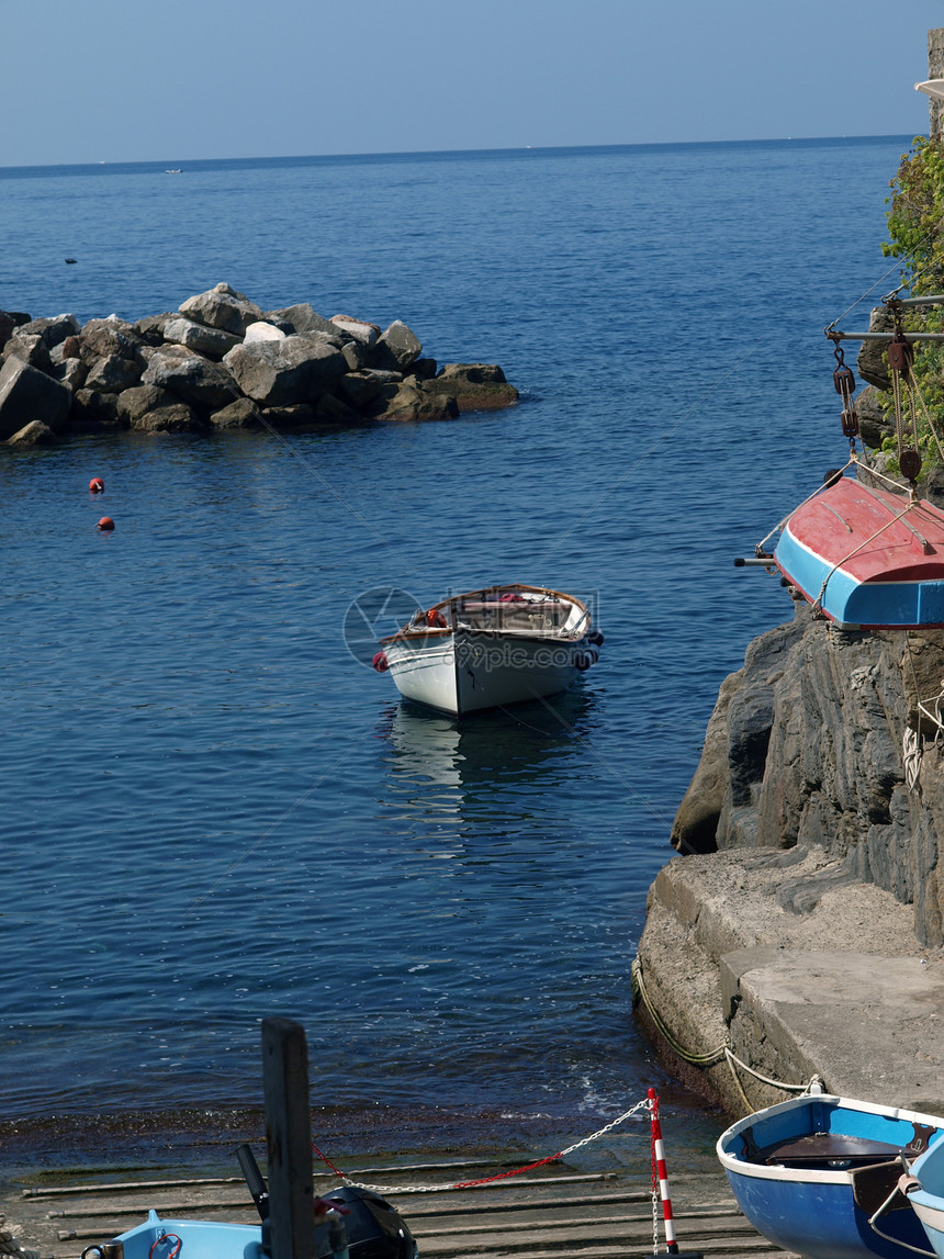
[[[409,700],[384,710],[389,742],[389,802],[404,821],[469,825],[520,812],[535,788],[554,783],[576,754],[593,695],[566,691],[550,700],[481,713],[462,724]],[[501,797],[501,812],[496,805]]]

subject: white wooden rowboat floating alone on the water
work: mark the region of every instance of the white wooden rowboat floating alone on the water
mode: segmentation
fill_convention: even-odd
[[[598,656],[585,606],[529,585],[443,599],[381,647],[405,699],[452,716],[556,695]]]

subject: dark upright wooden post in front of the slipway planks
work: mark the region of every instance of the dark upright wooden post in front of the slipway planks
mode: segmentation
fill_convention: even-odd
[[[272,1259],[311,1259],[315,1216],[305,1029],[262,1022]]]

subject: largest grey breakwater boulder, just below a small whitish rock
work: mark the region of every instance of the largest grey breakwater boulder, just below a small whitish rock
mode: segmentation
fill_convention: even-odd
[[[311,402],[347,370],[337,342],[322,332],[238,345],[223,363],[239,389],[263,407]]]

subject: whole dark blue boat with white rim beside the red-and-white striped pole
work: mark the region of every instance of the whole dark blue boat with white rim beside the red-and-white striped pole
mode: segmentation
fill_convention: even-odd
[[[739,1119],[717,1157],[748,1220],[783,1250],[914,1259],[929,1254],[928,1240],[914,1195],[896,1192],[901,1158],[944,1155],[941,1137],[941,1118],[811,1093]]]

